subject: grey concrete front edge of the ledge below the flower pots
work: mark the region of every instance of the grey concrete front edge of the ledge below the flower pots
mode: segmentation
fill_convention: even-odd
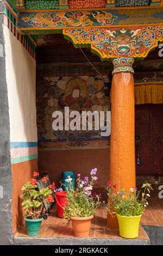
[[[14,245],[151,245],[149,240],[141,239],[78,239],[78,238],[44,238],[14,236]]]

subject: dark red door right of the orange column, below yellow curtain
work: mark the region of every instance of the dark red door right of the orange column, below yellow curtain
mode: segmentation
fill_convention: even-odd
[[[163,175],[162,134],[163,104],[135,105],[136,175],[151,176],[151,182]]]

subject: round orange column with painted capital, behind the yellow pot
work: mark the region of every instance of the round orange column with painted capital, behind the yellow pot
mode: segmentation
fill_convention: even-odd
[[[135,187],[135,97],[133,58],[113,60],[111,87],[111,141],[109,180],[116,191]],[[117,229],[116,217],[108,215],[107,225]]]

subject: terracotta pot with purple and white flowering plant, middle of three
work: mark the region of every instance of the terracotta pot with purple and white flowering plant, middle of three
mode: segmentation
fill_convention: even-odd
[[[91,179],[84,179],[78,174],[77,186],[74,189],[72,179],[67,179],[70,186],[66,193],[67,204],[64,208],[64,218],[72,222],[74,236],[86,237],[89,235],[91,220],[100,202],[101,194],[92,193],[93,185],[97,182],[97,168],[91,170]],[[72,186],[71,186],[72,185]]]

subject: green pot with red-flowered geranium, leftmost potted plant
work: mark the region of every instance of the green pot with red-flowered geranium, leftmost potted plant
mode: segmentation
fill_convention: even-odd
[[[38,235],[43,220],[41,212],[43,209],[43,202],[54,202],[52,196],[52,188],[46,187],[38,190],[36,185],[38,172],[34,172],[33,178],[30,179],[24,186],[22,186],[22,208],[24,210],[24,221],[26,222],[26,229],[28,235]],[[43,181],[46,179],[43,177]]]

